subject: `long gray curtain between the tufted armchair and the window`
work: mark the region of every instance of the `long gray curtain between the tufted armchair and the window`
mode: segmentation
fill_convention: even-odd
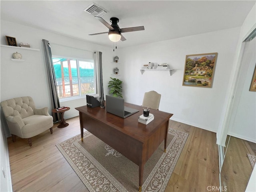
[[[52,62],[52,51],[51,46],[48,40],[42,39],[43,46],[44,46],[44,56],[48,74],[48,83],[50,87],[50,96],[51,96],[51,105],[52,109],[60,107],[60,101],[58,98],[58,91],[57,91],[57,83],[55,78],[55,72]],[[60,117],[57,113],[52,113],[53,122],[60,121]]]

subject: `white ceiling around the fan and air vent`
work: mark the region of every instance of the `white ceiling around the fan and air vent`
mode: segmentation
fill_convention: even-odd
[[[113,47],[108,34],[88,35],[108,31],[94,16],[83,11],[93,2],[108,10],[102,18],[109,24],[111,17],[117,17],[120,28],[145,27],[144,31],[122,33],[127,40],[118,42],[118,47],[239,27],[255,4],[255,0],[1,0],[1,20]]]

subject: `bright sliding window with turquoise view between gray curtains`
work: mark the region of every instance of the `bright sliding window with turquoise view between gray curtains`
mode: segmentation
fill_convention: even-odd
[[[52,61],[60,100],[96,93],[93,60],[53,56]]]

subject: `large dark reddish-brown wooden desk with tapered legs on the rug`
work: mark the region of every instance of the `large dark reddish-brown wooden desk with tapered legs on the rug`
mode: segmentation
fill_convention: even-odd
[[[125,106],[140,110],[127,118],[107,113],[105,108],[77,107],[80,117],[81,140],[84,129],[120,152],[139,166],[139,191],[142,187],[144,165],[168,135],[169,119],[173,114],[150,109],[154,120],[148,125],[138,122],[143,114],[142,106],[125,103]]]

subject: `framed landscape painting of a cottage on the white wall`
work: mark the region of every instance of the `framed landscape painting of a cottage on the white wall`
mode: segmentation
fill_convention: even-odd
[[[186,55],[184,86],[212,87],[218,53]]]

